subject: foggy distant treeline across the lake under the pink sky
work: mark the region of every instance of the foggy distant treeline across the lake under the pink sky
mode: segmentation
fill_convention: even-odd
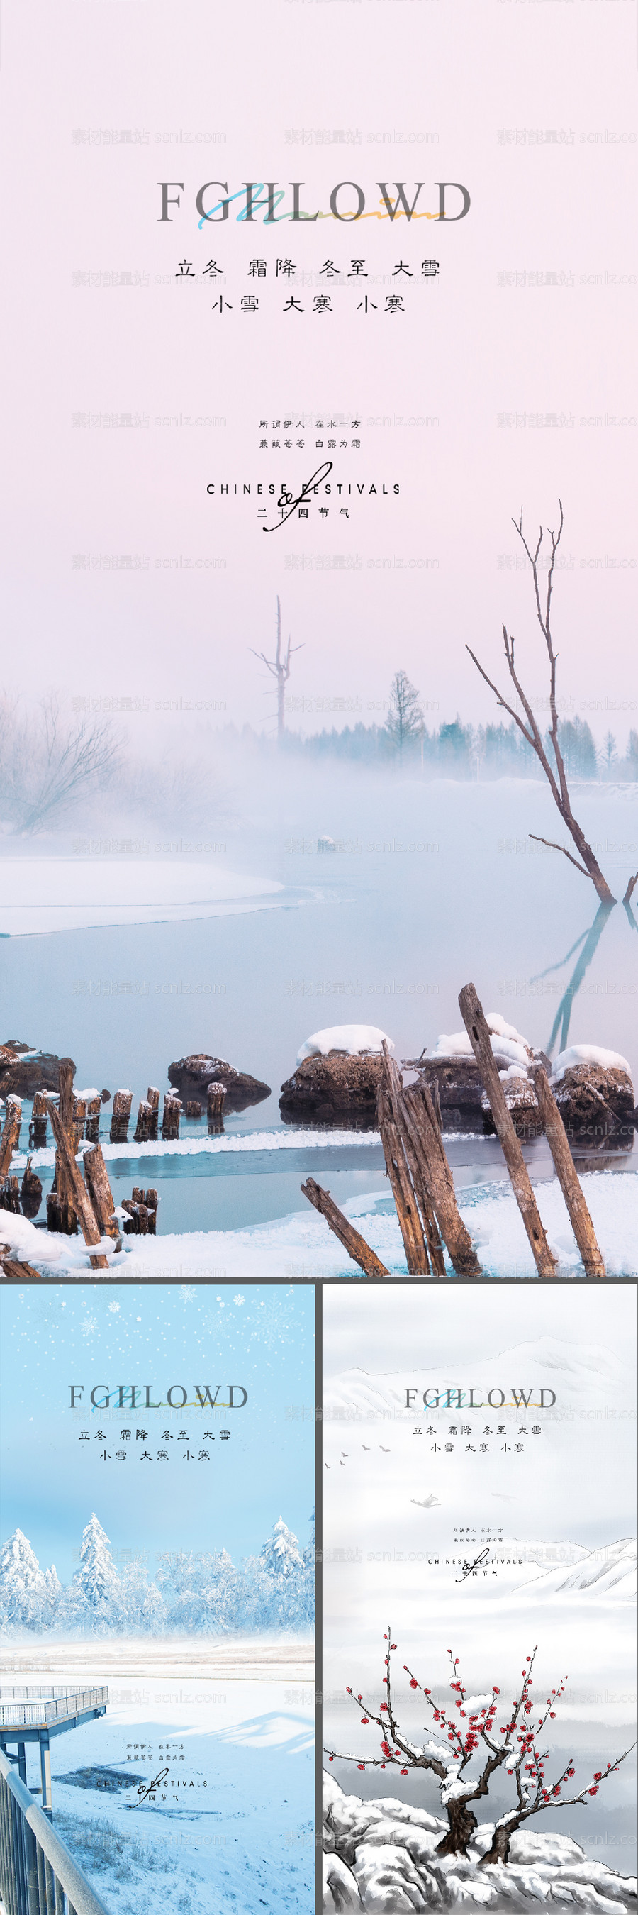
[[[297,701],[289,703],[295,709]],[[322,703],[339,712],[351,705]],[[559,720],[558,735],[569,777],[638,779],[638,730],[625,737],[607,730],[596,741],[590,724],[575,714]],[[56,831],[96,804],[157,823],[218,827],[230,818],[230,791],[238,799],[243,774],[274,756],[291,774],[303,764],[339,760],[343,770],[387,776],[538,776],[535,753],[512,720],[475,726],[456,712],[427,728],[420,693],[402,670],[391,682],[383,724],[356,720],[308,733],[285,726],[274,735],[249,724],[199,720],[180,726],[169,747],[151,720],[134,743],[117,718],[77,716],[56,691],[33,705],[0,693],[0,833]]]

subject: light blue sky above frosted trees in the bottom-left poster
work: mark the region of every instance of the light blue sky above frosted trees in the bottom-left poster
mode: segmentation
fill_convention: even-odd
[[[0,1293],[2,1327],[2,1540],[19,1526],[40,1566],[61,1582],[77,1568],[92,1511],[113,1551],[155,1555],[226,1547],[234,1561],[259,1549],[282,1515],[308,1540],[314,1503],[314,1296],[287,1285],[82,1285]],[[84,1385],[71,1411],[69,1385]],[[92,1409],[103,1383],[171,1385],[188,1408]],[[194,1409],[194,1385],[209,1383],[228,1404],[243,1385],[245,1408]],[[105,1390],[96,1392],[103,1400]],[[241,1392],[236,1392],[241,1400]],[[117,1398],[115,1398],[117,1402]],[[174,1404],[180,1404],[176,1388]],[[291,1415],[291,1411],[299,1411]],[[121,1431],[130,1429],[132,1440]],[[136,1440],[144,1429],[148,1440]],[[172,1436],[163,1442],[163,1431]],[[180,1440],[188,1431],[188,1442]],[[230,1440],[218,1431],[230,1429]],[[88,1431],[88,1442],[80,1440]],[[103,1431],[102,1442],[98,1431]],[[203,1432],[215,1440],[203,1444]],[[126,1450],[126,1461],[115,1452]],[[157,1450],[169,1450],[169,1463]],[[199,1463],[199,1450],[211,1461]],[[103,1450],[111,1461],[102,1461]],[[148,1450],[151,1461],[142,1463]],[[194,1461],[186,1459],[186,1452]]]

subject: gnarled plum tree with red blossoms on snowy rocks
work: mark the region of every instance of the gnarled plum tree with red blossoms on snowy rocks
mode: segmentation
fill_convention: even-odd
[[[343,1756],[337,1750],[326,1750],[326,1754],[330,1762],[356,1762],[358,1769],[399,1768],[400,1775],[408,1775],[410,1769],[429,1769],[437,1777],[441,1789],[441,1808],[444,1808],[448,1817],[448,1827],[435,1850],[437,1856],[467,1854],[469,1840],[477,1827],[477,1817],[469,1804],[489,1794],[490,1777],[496,1769],[508,1768],[508,1775],[515,1775],[517,1804],[496,1823],[490,1848],[483,1856],[481,1867],[489,1867],[496,1861],[508,1861],[512,1835],[521,1821],[529,1819],[529,1815],[536,1815],[540,1810],[550,1806],[567,1808],[569,1802],[586,1802],[588,1796],[598,1794],[598,1787],[605,1775],[615,1773],[619,1764],[625,1762],[625,1756],[630,1752],[625,1750],[623,1756],[609,1762],[605,1773],[598,1771],[592,1783],[584,1785],[581,1792],[571,1798],[561,1800],[563,1783],[575,1775],[571,1760],[556,1783],[546,1783],[546,1756],[540,1754],[536,1739],[546,1722],[554,1720],[554,1701],[563,1695],[563,1685],[559,1691],[552,1689],[544,1710],[536,1716],[535,1725],[531,1722],[535,1714],[531,1689],[538,1645],[527,1656],[527,1666],[521,1670],[521,1689],[513,1697],[512,1708],[506,1710],[506,1722],[500,1724],[498,1737],[494,1724],[496,1714],[502,1710],[502,1702],[496,1683],[492,1683],[492,1689],[487,1695],[467,1695],[464,1681],[458,1676],[460,1658],[452,1656],[452,1651],[448,1649],[452,1666],[450,1689],[454,1697],[454,1710],[458,1710],[456,1716],[448,1706],[444,1708],[441,1702],[435,1702],[431,1689],[423,1687],[404,1662],[402,1666],[408,1676],[410,1689],[422,1691],[437,1725],[437,1741],[431,1739],[418,1746],[402,1733],[397,1722],[391,1687],[391,1656],[397,1643],[391,1639],[391,1630],[383,1635],[383,1643],[387,1645],[387,1653],[383,1656],[385,1674],[381,1676],[381,1687],[385,1691],[383,1702],[376,1708],[368,1706],[362,1695],[354,1697],[354,1691],[351,1687],[347,1689],[353,1702],[364,1710],[360,1718],[362,1725],[368,1727],[368,1724],[376,1724],[381,1729],[381,1754],[366,1758],[364,1762],[360,1762],[358,1756]],[[477,1750],[479,1760],[475,1762]]]

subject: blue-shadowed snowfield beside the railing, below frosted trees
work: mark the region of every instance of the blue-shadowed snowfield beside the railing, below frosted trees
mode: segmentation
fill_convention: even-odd
[[[171,1662],[157,1674],[155,1643],[155,1674],[136,1681],[126,1660],[117,1676],[113,1655],[105,1664],[100,1645],[92,1649],[107,1714],[54,1739],[52,1798],[54,1827],[107,1909],[310,1915],[312,1679],[289,1687],[264,1668],[261,1681],[224,1670],[174,1685]],[[73,1681],[69,1653],[65,1676]],[[19,1679],[33,1685],[33,1668]],[[27,1764],[29,1783],[38,1783],[33,1745]],[[157,1777],[153,1800],[140,1802],[138,1785]]]

